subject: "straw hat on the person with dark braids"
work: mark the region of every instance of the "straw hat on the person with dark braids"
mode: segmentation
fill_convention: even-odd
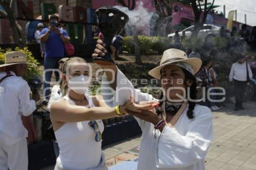
[[[182,65],[182,63],[187,63],[188,65],[187,64],[185,64],[185,65],[189,66],[189,68],[184,67]],[[150,70],[148,72],[148,74],[151,75],[152,77],[160,80],[161,69],[164,68],[164,66],[171,65],[171,64],[185,68],[191,74],[195,75],[201,68],[202,61],[199,58],[188,58],[187,54],[184,51],[178,50],[175,48],[171,48],[171,49],[164,51],[160,65],[158,67]]]

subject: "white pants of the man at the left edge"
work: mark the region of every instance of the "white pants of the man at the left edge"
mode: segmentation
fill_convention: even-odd
[[[26,138],[9,135],[0,138],[0,169],[27,170],[28,150]]]

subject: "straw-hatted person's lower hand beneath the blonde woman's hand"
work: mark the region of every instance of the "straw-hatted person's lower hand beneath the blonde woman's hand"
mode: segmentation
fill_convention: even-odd
[[[129,114],[135,116],[135,117],[138,117],[142,120],[145,120],[147,122],[150,122],[152,123],[154,126],[161,120],[157,113],[153,110],[149,110],[149,111],[146,111],[146,110],[141,110],[140,113],[138,112],[133,112],[133,111],[129,111],[129,110],[126,110],[126,112],[128,112]]]

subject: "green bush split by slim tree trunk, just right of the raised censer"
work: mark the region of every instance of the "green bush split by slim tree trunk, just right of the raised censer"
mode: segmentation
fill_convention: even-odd
[[[139,35],[139,46],[141,53],[163,53],[172,47],[170,39],[167,37],[148,37]],[[124,50],[129,53],[134,53],[133,36],[126,36],[123,38]]]

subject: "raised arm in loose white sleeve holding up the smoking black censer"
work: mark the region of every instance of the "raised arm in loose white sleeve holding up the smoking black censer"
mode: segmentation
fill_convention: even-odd
[[[101,40],[97,41],[96,49],[94,50],[93,57],[105,56],[105,44]],[[114,53],[114,48],[111,47],[111,53]],[[113,50],[114,49],[114,50]],[[156,100],[147,93],[142,93],[133,87],[133,84],[127,77],[117,68],[116,65],[101,65],[105,70],[101,81],[101,94],[106,104],[110,107],[116,105],[123,105],[129,100],[130,96],[134,96],[134,102],[153,101]],[[143,130],[144,120],[135,117],[139,126]]]

